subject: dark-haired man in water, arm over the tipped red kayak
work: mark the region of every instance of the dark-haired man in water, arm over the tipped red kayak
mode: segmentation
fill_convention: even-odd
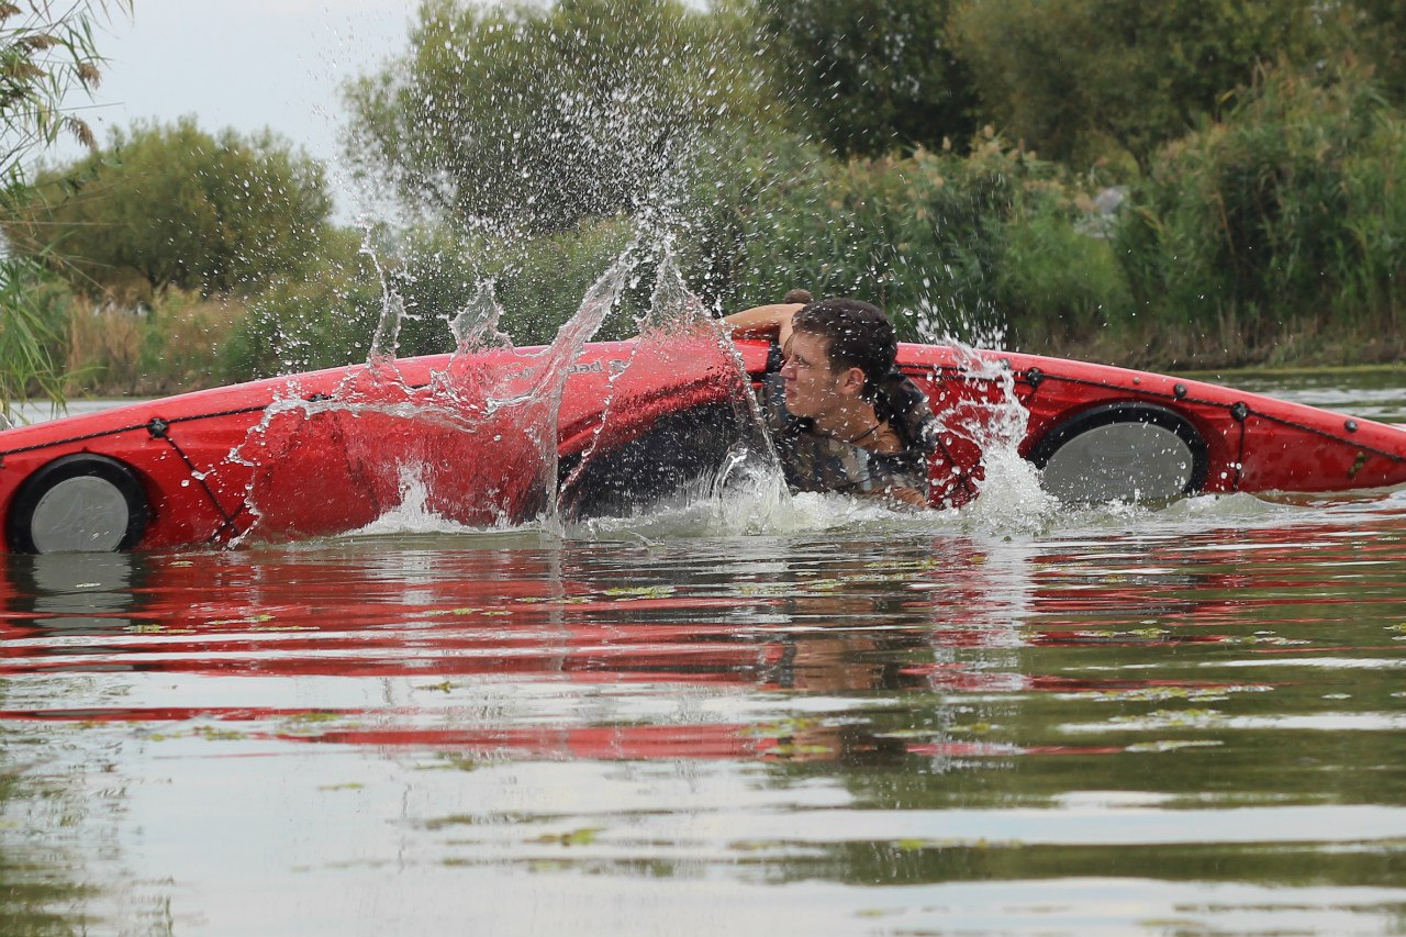
[[[922,391],[898,374],[897,335],[879,307],[851,298],[779,302],[724,324],[734,338],[772,338],[782,350],[780,371],[768,374],[758,400],[792,491],[927,506],[936,419]]]

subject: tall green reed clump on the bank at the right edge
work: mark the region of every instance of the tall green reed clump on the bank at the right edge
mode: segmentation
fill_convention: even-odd
[[[1399,333],[1403,176],[1406,122],[1364,76],[1267,69],[1154,163],[1119,232],[1133,290],[1249,360],[1303,324]]]

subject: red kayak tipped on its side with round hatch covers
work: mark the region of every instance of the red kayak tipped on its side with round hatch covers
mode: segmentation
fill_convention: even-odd
[[[737,345],[755,380],[763,343]],[[0,433],[4,546],[167,547],[361,528],[408,498],[465,525],[647,502],[716,473],[741,377],[713,336],[588,345],[555,383],[541,349],[408,359],[184,394]],[[995,421],[1069,501],[1406,483],[1406,431],[1159,374],[900,346],[946,432],[932,499],[980,490]],[[560,405],[558,405],[560,393]],[[553,445],[554,443],[554,445]]]

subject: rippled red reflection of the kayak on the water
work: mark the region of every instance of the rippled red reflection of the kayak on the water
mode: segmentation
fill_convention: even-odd
[[[1288,556],[1302,539],[1302,526],[1251,530],[1226,549],[1256,549],[1258,567],[1272,570],[1275,552]],[[1175,563],[1175,544],[1150,549],[1153,561]],[[1344,549],[1361,559],[1358,547]],[[1284,650],[1268,640],[1246,646],[1219,597],[1267,580],[1247,580],[1233,564],[1194,581],[1157,577],[1092,595],[1057,573],[1077,560],[1042,561],[1024,613],[1039,625],[1021,627],[994,588],[1004,574],[993,578],[977,550],[949,542],[942,563],[910,570],[934,591],[903,611],[862,560],[827,570],[839,578],[783,574],[782,588],[758,594],[711,580],[621,588],[616,567],[599,564],[610,549],[593,547],[565,563],[557,552],[437,550],[409,578],[394,552],[374,546],[278,552],[276,561],[11,557],[0,570],[0,680],[77,689],[10,694],[0,720],[115,722],[145,726],[152,739],[277,739],[472,760],[1095,754],[1125,748],[983,740],[950,732],[921,706],[880,705],[873,712],[887,715],[869,720],[855,719],[848,702],[790,701],[1195,698],[1250,685],[1189,671],[1073,673],[1043,651],[1112,643],[1232,643],[1250,657]],[[1046,578],[1049,588],[1039,588]],[[1149,602],[1174,630],[1146,626]],[[939,609],[957,618],[935,627]],[[890,626],[873,629],[879,616]],[[1018,647],[1042,653],[1012,654]],[[309,705],[309,687],[329,678],[346,682],[314,692],[321,705]],[[662,696],[692,702],[637,708]]]

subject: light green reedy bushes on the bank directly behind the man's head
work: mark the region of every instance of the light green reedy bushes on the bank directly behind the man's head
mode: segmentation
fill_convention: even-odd
[[[735,249],[724,308],[804,287],[884,305],[905,339],[993,342],[1008,326],[1017,343],[1067,340],[1129,311],[1109,245],[1085,231],[1087,194],[994,132],[966,156],[838,162],[797,144],[755,173],[731,231],[711,229]]]

